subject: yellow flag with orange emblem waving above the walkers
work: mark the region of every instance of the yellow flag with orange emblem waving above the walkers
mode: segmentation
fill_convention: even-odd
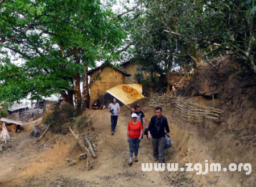
[[[109,90],[109,94],[116,97],[119,101],[124,104],[134,103],[135,101],[142,99],[142,85],[141,84],[120,84]]]

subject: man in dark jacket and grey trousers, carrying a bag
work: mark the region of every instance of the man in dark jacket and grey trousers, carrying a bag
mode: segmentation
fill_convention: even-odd
[[[167,118],[162,116],[162,108],[156,107],[155,113],[156,115],[151,118],[148,125],[148,138],[153,138],[153,156],[155,161],[159,160],[159,163],[164,163],[164,147],[166,146],[164,129],[168,135],[170,135],[170,129]]]

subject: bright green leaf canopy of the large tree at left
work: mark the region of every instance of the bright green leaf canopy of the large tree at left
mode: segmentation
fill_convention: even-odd
[[[81,94],[80,88],[74,91],[76,82],[86,81],[84,73],[97,61],[117,59],[117,49],[126,37],[120,27],[123,20],[114,19],[112,5],[102,5],[100,0],[3,2],[0,38],[31,27],[13,40],[0,42],[0,101],[13,102],[29,94],[59,93],[71,98]],[[23,63],[11,63],[10,51]],[[81,101],[76,101],[78,106]]]

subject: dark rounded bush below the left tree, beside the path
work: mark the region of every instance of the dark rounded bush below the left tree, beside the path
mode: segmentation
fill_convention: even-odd
[[[67,134],[69,132],[68,125],[73,126],[75,114],[76,110],[71,104],[56,105],[55,111],[47,116],[45,124],[50,124],[49,129],[54,133]]]

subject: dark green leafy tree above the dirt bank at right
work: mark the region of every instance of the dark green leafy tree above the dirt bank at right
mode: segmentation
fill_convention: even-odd
[[[159,54],[191,58],[197,68],[204,56],[230,51],[256,73],[255,1],[138,2],[144,5],[142,35],[155,29],[156,22],[162,23],[160,28],[171,36],[170,39],[177,39],[182,48],[175,53]]]

